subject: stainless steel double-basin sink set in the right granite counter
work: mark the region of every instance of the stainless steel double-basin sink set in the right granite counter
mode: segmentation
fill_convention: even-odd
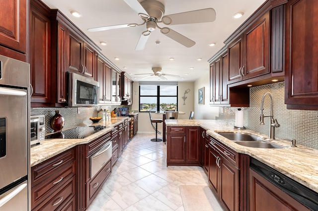
[[[283,149],[283,146],[270,143],[258,136],[241,133],[241,132],[217,132],[221,136],[235,142],[244,147],[267,148],[267,149]]]

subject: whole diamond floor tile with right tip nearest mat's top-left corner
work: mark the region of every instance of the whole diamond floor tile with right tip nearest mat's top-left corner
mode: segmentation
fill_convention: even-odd
[[[154,174],[151,174],[147,177],[144,177],[136,181],[135,184],[147,191],[148,193],[152,194],[155,191],[158,191],[160,188],[169,184],[169,182]]]

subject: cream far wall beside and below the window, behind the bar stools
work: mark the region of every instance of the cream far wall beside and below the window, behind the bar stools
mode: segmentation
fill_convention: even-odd
[[[185,94],[187,99],[185,100],[185,105],[183,105],[182,97],[184,96],[184,91],[190,89],[188,94]],[[179,119],[188,119],[190,111],[194,110],[194,83],[193,82],[179,82],[178,83],[178,110],[185,112],[185,114],[179,115]],[[139,82],[133,83],[133,105],[132,110],[139,111]],[[162,119],[162,114],[152,113],[152,117],[155,119]],[[154,124],[155,125],[155,124]],[[158,130],[162,131],[162,123],[158,124]],[[138,114],[138,132],[146,133],[155,131],[150,123],[149,113],[140,112]],[[159,137],[162,135],[159,135]]]

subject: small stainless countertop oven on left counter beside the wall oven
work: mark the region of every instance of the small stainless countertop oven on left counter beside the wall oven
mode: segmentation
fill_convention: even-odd
[[[45,116],[30,116],[30,145],[40,144],[45,137]]]

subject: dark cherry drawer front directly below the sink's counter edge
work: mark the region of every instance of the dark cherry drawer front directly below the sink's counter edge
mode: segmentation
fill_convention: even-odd
[[[212,137],[210,137],[210,144],[212,144],[224,158],[227,158],[235,166],[239,167],[239,153],[213,139]]]

